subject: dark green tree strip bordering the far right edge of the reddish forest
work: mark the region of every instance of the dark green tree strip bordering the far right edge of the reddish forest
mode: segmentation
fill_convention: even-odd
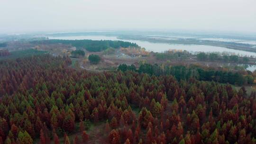
[[[239,72],[228,72],[228,71],[216,71],[213,69],[203,69],[197,66],[168,66],[168,65],[151,65],[141,64],[137,70],[134,65],[121,64],[118,67],[119,70],[125,72],[127,70],[148,73],[150,75],[173,75],[176,80],[189,80],[190,78],[200,81],[217,81],[221,83],[229,84],[253,84],[254,77],[252,72],[247,71],[246,73]]]

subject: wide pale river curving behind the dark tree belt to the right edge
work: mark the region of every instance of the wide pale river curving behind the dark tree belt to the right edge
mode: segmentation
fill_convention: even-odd
[[[91,39],[91,40],[121,40],[136,43],[137,45],[144,47],[147,51],[153,52],[165,52],[170,49],[186,50],[191,53],[194,52],[219,52],[221,54],[239,54],[241,56],[254,56],[256,53],[246,52],[241,50],[233,50],[225,47],[211,46],[211,45],[180,45],[180,44],[165,44],[165,43],[151,43],[147,41],[139,40],[128,40],[128,39],[118,39],[116,36],[61,36],[52,37],[49,39],[67,39],[67,40],[81,40],[81,39]]]

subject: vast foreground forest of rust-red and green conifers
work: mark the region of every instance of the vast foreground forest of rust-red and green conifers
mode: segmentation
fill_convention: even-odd
[[[101,144],[256,144],[255,92],[201,81],[200,69],[197,78],[184,67],[70,64],[48,54],[0,61],[0,144],[93,144],[89,122],[105,123]]]

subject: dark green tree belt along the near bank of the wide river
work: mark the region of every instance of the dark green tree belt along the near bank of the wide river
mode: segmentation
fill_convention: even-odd
[[[108,48],[120,48],[120,47],[138,47],[135,43],[124,42],[124,41],[111,41],[111,40],[42,40],[42,41],[32,41],[33,44],[65,44],[72,45],[77,48],[85,48],[90,52],[101,52]]]

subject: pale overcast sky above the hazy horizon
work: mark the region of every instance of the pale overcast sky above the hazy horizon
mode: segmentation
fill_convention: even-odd
[[[256,0],[0,0],[0,33],[133,29],[256,33]]]

